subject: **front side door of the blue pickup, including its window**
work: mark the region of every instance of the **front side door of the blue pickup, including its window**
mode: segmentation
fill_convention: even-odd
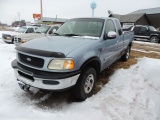
[[[119,55],[119,52],[121,48],[123,47],[123,44],[120,44],[120,39],[122,39],[118,35],[118,30],[116,29],[116,26],[113,22],[113,20],[108,19],[105,24],[105,34],[107,35],[108,32],[114,31],[117,33],[117,37],[115,39],[106,39],[103,40],[103,68],[105,69],[110,64],[112,64],[115,60],[117,60],[117,57]]]

